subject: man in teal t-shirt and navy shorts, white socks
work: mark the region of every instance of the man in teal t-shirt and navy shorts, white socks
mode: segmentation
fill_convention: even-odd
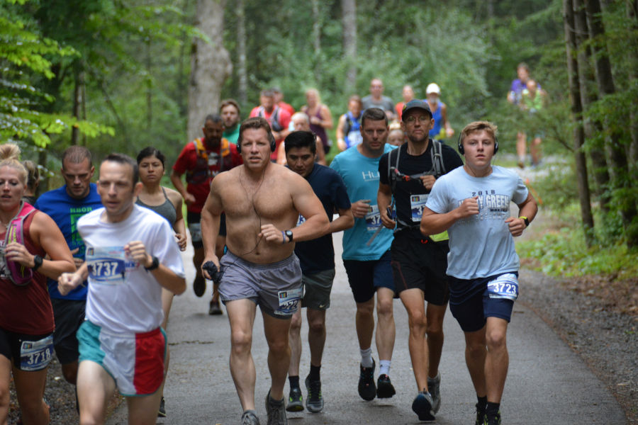
[[[379,188],[379,159],[390,152],[388,117],[379,108],[366,109],[361,118],[362,142],[338,154],[330,168],[337,171],[352,202],[354,227],[343,234],[343,265],[348,275],[354,302],[357,303],[355,324],[361,364],[359,396],[369,401],[374,397],[395,394],[390,380],[394,348],[393,297],[394,283],[390,265],[391,230],[381,227],[376,192]],[[354,201],[353,201],[354,200]],[[374,385],[376,363],[372,358],[374,333],[374,294],[376,293],[376,349],[379,353],[379,379]]]

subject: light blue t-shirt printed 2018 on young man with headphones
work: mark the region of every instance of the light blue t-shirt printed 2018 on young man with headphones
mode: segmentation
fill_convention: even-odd
[[[447,229],[447,274],[476,279],[517,271],[520,263],[505,219],[510,217],[510,202],[520,204],[527,199],[525,183],[501,166],[492,166],[487,177],[470,176],[459,167],[437,179],[425,206],[444,214],[474,196],[478,196],[478,215],[458,220]]]

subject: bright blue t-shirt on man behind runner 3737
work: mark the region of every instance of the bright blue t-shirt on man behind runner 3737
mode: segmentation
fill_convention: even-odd
[[[95,183],[90,183],[89,194],[82,199],[75,199],[69,196],[67,185],[65,185],[43,193],[33,206],[42,212],[46,212],[55,221],[57,227],[60,227],[62,234],[65,235],[69,249],[73,251],[79,248],[73,256],[84,260],[86,247],[82,237],[77,232],[77,220],[86,212],[91,212],[103,206]],[[78,285],[77,288],[65,296],[60,295],[60,291],[57,290],[57,280],[47,279],[47,285],[49,286],[49,295],[52,298],[86,300],[86,282],[84,282],[84,285]]]

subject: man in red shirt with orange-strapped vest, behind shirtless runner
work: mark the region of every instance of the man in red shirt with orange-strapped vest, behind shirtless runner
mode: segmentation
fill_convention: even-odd
[[[202,128],[204,137],[193,140],[181,150],[173,165],[171,181],[186,203],[186,221],[189,225],[191,242],[193,243],[193,263],[195,280],[193,290],[201,297],[206,292],[206,280],[201,275],[201,264],[204,250],[201,242],[201,208],[206,202],[211,181],[221,171],[232,169],[242,163],[237,147],[222,137],[223,122],[219,115],[207,115]],[[181,182],[181,175],[186,174],[187,186]],[[224,219],[220,227],[220,240],[217,243],[218,256],[223,255],[225,244]],[[208,306],[208,314],[222,314],[219,305],[217,285],[213,284],[213,297]]]

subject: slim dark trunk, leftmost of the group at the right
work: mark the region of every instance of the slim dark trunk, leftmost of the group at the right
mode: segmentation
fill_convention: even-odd
[[[569,74],[569,98],[571,101],[571,117],[576,126],[573,130],[574,159],[576,160],[576,180],[578,182],[578,199],[581,203],[581,218],[585,241],[588,246],[593,243],[593,215],[587,181],[587,161],[583,152],[585,137],[583,134],[583,106],[578,87],[578,61],[574,57],[578,51],[572,0],[563,0],[563,17],[565,28],[565,51],[567,54],[567,70]]]

